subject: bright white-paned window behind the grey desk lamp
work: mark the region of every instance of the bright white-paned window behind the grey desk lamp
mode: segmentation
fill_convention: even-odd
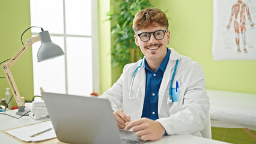
[[[65,56],[37,62],[40,42],[32,45],[34,94],[89,95],[99,92],[97,0],[31,0],[31,26],[49,31]],[[32,35],[40,29],[32,28]]]

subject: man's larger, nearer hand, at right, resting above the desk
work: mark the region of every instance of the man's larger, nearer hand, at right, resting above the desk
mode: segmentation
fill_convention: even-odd
[[[158,140],[165,134],[165,128],[157,122],[148,118],[141,118],[137,121],[126,123],[125,130],[132,128],[136,132],[136,136],[141,137],[141,140]]]

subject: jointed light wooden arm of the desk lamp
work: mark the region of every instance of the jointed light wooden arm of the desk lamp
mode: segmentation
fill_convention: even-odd
[[[10,85],[11,91],[17,103],[17,106],[25,105],[25,98],[20,96],[17,85],[13,79],[13,74],[11,74],[10,68],[18,61],[18,59],[32,46],[33,43],[40,41],[39,36],[31,37],[26,40],[26,43],[15,53],[15,55],[5,64],[2,64],[2,69],[4,70],[6,79]]]

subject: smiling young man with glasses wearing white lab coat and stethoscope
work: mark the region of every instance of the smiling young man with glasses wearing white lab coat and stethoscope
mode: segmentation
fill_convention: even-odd
[[[100,96],[111,101],[118,128],[132,128],[142,140],[164,134],[202,136],[210,104],[201,65],[166,47],[168,19],[159,9],[139,11],[133,30],[144,59],[127,64]]]

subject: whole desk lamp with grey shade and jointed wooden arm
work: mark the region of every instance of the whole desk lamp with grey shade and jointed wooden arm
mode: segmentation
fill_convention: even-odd
[[[61,47],[59,47],[55,43],[52,43],[52,40],[50,40],[49,32],[43,31],[43,29],[41,28],[41,32],[39,32],[37,37],[31,37],[27,39],[26,43],[18,50],[17,53],[15,53],[15,55],[10,59],[10,61],[8,61],[5,64],[2,64],[2,68],[4,70],[5,76],[8,80],[11,91],[13,92],[13,97],[15,98],[15,101],[19,109],[18,112],[16,112],[17,115],[25,115],[26,113],[28,113],[28,110],[25,110],[25,106],[24,106],[25,98],[20,96],[19,90],[16,86],[16,83],[14,82],[13,75],[11,74],[10,68],[13,67],[15,62],[19,60],[19,58],[26,52],[26,50],[28,50],[29,47],[31,47],[32,44],[37,41],[41,41],[41,46],[37,52],[38,62],[64,55],[64,52],[61,49]]]

